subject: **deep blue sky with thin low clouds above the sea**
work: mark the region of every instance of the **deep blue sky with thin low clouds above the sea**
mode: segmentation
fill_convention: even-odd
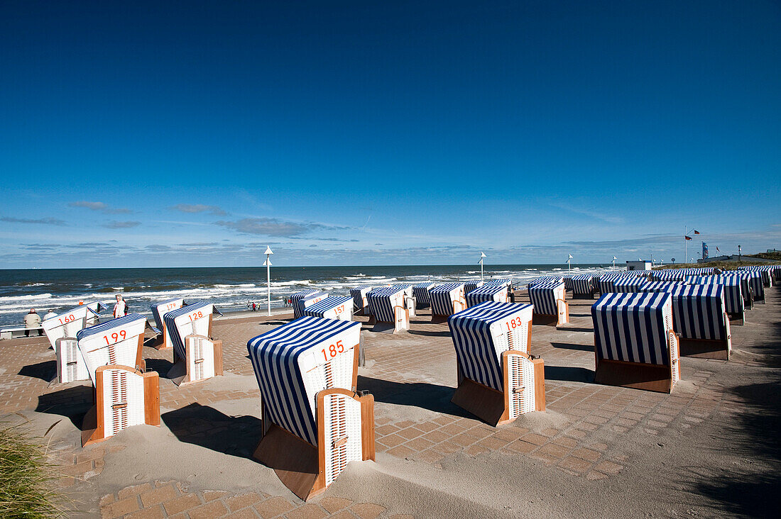
[[[686,225],[781,248],[778,27],[778,2],[2,2],[0,267],[680,261]]]

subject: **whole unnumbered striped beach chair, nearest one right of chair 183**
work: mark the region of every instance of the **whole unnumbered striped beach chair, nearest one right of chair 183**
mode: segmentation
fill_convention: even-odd
[[[605,293],[591,306],[594,382],[671,393],[679,379],[669,293]]]

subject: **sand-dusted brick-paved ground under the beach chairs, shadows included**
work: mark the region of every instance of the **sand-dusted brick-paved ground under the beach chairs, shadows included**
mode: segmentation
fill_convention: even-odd
[[[519,294],[520,295],[520,294]],[[524,295],[520,295],[525,300]],[[251,459],[259,390],[246,343],[286,322],[262,312],[217,318],[222,377],[178,388],[158,371],[162,425],[80,447],[88,382],[49,386],[45,339],[0,344],[0,413],[45,438],[62,465],[71,517],[719,517],[758,516],[779,488],[779,290],[733,326],[730,361],[685,357],[671,395],[596,385],[589,306],[572,323],[534,325],[547,411],[491,427],[450,402],[447,325],[423,311],[410,332],[364,326],[358,389],[376,399],[376,462],[353,462],[304,503]],[[366,318],[356,318],[366,321]],[[138,515],[134,515],[138,514]]]

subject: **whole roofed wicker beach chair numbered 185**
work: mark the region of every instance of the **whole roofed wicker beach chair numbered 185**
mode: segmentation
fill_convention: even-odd
[[[250,339],[262,439],[253,457],[301,499],[374,460],[374,397],[356,393],[361,323],[305,316]]]

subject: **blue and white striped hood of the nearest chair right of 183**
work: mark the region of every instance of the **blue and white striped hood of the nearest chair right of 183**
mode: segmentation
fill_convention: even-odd
[[[669,365],[671,303],[664,292],[604,294],[591,307],[597,357]]]

